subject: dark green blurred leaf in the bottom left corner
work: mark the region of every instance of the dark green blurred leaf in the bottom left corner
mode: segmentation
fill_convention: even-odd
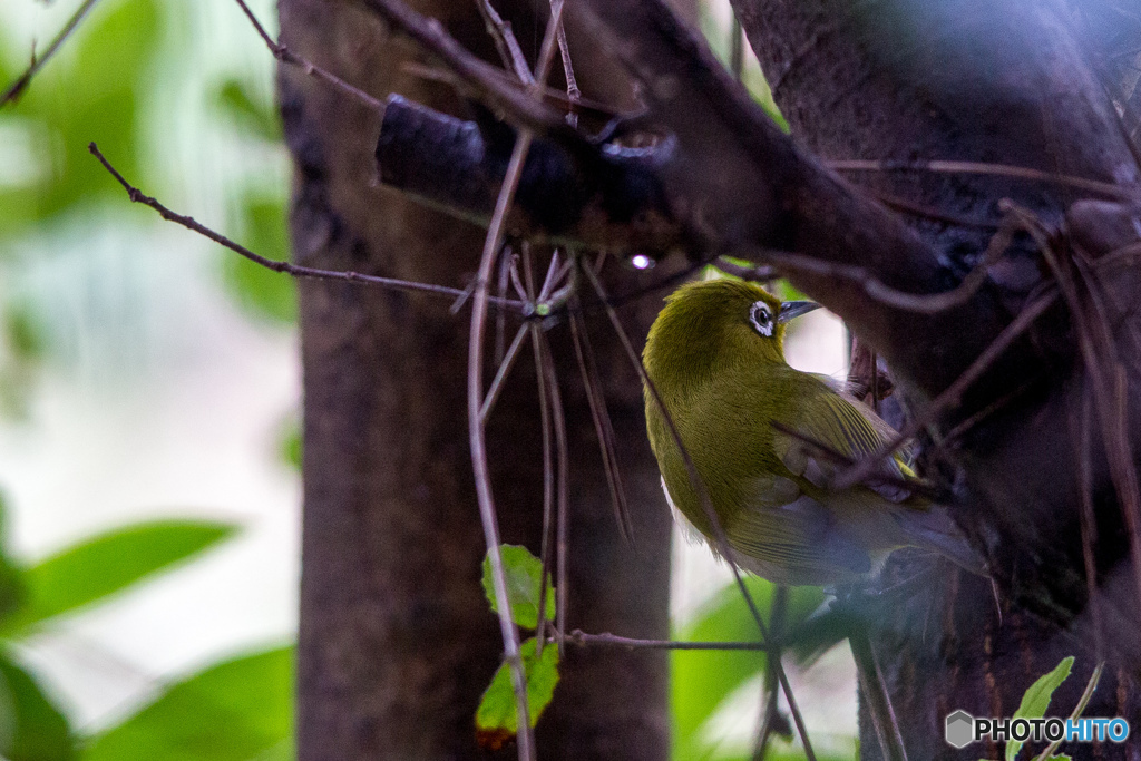
[[[0,753],[8,761],[66,761],[75,755],[67,719],[7,654],[0,654]]]

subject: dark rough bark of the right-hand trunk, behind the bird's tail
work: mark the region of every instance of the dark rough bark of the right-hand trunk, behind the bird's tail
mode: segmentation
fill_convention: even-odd
[[[735,7],[793,135],[820,156],[986,161],[1138,184],[1135,156],[1093,65],[1097,50],[1063,3],[739,0]],[[976,219],[997,219],[1000,199],[1013,199],[1060,224],[1082,197],[1060,185],[922,171],[861,175],[858,181]],[[1104,228],[1108,218],[1089,227]],[[914,226],[960,272],[990,235],[934,222]],[[990,288],[1006,303],[1017,303],[1039,282],[1020,258],[1021,266],[1014,259],[992,273]],[[1135,317],[1118,319],[1125,321],[1118,335],[1132,364],[1136,345],[1128,340],[1134,329],[1127,323]],[[917,338],[932,341],[933,353],[957,353],[970,331],[963,324],[956,333]],[[978,426],[941,463],[964,477],[960,496],[968,521],[990,532],[1004,614],[982,580],[957,572],[928,585],[926,593],[873,614],[880,616],[876,645],[913,759],[978,758],[978,746],[955,752],[942,743],[942,718],[955,709],[1010,715],[1036,675],[1066,655],[1078,662],[1055,704],[1073,706],[1098,657],[1081,570],[1081,450],[1073,430],[1083,369],[1067,317],[1045,323],[1036,339],[1038,346],[1022,355],[1025,364],[993,375],[976,404],[993,403],[1031,380],[1034,390]],[[1132,382],[1135,389],[1135,375]],[[1136,395],[1133,390],[1132,398]],[[1135,411],[1135,402],[1130,407]],[[1136,430],[1134,424],[1134,437]],[[1103,456],[1098,444],[1094,456]],[[1100,468],[1097,564],[1112,655],[1087,714],[1135,718],[1136,591],[1123,578],[1131,575],[1128,542],[1107,481]],[[920,561],[898,561],[889,573],[898,580],[922,569]],[[865,758],[881,758],[866,711],[861,736]],[[1075,758],[1133,759],[1138,748],[1131,740],[1069,750]],[[992,758],[998,751],[987,748]]]

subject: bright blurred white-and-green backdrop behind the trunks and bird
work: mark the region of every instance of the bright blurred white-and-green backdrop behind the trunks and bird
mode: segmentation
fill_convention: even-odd
[[[81,5],[0,3],[0,87]],[[250,5],[273,32],[273,1]],[[705,3],[702,23],[728,59],[728,3]],[[767,97],[747,56],[745,81]],[[273,86],[230,0],[102,0],[0,108],[0,754],[14,761],[292,756],[292,283],[129,203],[87,149],[284,259]],[[842,378],[839,321],[800,323],[792,364]],[[728,580],[675,537],[678,637],[755,638]],[[820,599],[798,591],[790,609]],[[677,759],[747,758],[762,665],[674,655]],[[847,648],[793,681],[817,750],[852,758]],[[801,756],[778,739],[769,758]]]

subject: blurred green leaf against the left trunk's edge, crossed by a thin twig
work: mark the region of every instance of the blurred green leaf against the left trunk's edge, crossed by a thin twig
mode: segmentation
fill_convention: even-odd
[[[237,238],[267,259],[289,259],[285,230],[285,196],[249,194],[242,200]],[[293,278],[228,253],[222,273],[230,292],[251,314],[280,323],[297,319],[297,288]]]

